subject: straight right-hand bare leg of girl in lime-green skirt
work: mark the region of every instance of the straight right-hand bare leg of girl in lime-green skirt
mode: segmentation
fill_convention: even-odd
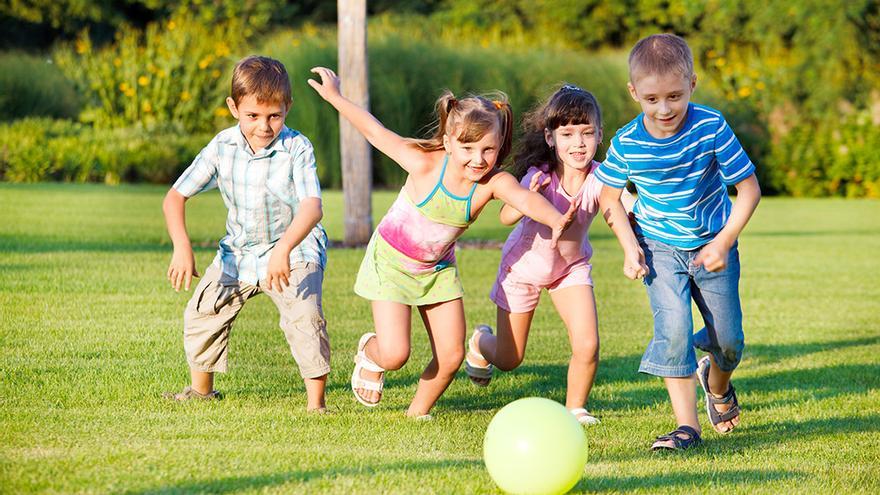
[[[464,361],[465,322],[461,299],[419,306],[433,357],[419,378],[407,416],[428,414]]]

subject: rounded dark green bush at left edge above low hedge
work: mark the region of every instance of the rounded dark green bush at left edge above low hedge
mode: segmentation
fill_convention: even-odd
[[[45,57],[0,54],[0,120],[75,118],[79,96],[73,82]]]

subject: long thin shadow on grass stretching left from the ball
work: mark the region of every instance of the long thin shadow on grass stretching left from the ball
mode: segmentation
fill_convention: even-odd
[[[371,464],[367,467],[329,467],[327,469],[310,469],[303,471],[289,471],[286,473],[255,475],[255,476],[232,476],[215,480],[202,480],[182,482],[170,486],[148,488],[145,490],[124,492],[127,495],[153,495],[166,493],[234,493],[240,491],[261,491],[269,487],[284,485],[286,483],[308,483],[315,479],[332,479],[346,476],[369,477],[376,473],[388,473],[393,471],[412,472],[418,476],[419,471],[435,469],[482,469],[481,461],[437,461],[437,462],[395,462],[386,464]]]

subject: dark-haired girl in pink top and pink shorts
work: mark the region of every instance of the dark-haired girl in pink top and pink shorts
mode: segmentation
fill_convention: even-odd
[[[526,116],[524,127],[514,175],[560,211],[571,204],[579,206],[555,246],[549,228],[510,205],[501,209],[503,223],[519,224],[504,244],[489,296],[498,306],[497,334],[487,325],[476,327],[468,342],[465,369],[474,383],[486,386],[493,367],[510,371],[519,366],[541,290],[547,289],[571,342],[565,405],[581,424],[596,424],[599,420],[584,405],[599,362],[588,230],[602,190],[593,175],[599,166],[593,156],[602,142],[602,114],[592,94],[565,85]]]

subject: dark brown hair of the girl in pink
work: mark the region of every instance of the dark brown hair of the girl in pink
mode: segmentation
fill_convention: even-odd
[[[565,84],[550,98],[523,117],[523,137],[520,140],[510,173],[522,179],[529,167],[545,163],[557,165],[556,153],[547,145],[544,129],[551,132],[564,125],[590,124],[602,128],[602,109],[592,93],[571,84]]]

